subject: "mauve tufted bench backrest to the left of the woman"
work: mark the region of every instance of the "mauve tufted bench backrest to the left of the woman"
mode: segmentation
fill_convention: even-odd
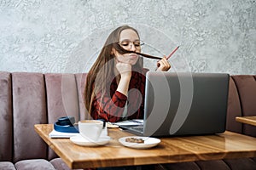
[[[86,74],[0,72],[0,161],[56,157],[34,124],[85,118]],[[88,117],[87,117],[88,118]]]

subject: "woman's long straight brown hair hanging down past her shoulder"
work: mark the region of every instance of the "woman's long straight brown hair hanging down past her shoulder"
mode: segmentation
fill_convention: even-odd
[[[126,29],[131,29],[139,34],[136,29],[131,26],[119,26],[108,36],[104,47],[102,48],[101,53],[98,55],[96,62],[90,68],[90,71],[87,74],[85,88],[84,88],[84,102],[87,111],[91,112],[92,101],[95,98],[95,95],[102,91],[102,94],[105,93],[106,87],[113,81],[114,77],[114,54],[112,53],[113,43],[119,41],[119,36],[121,31]],[[136,65],[133,65],[135,68],[141,68],[140,63],[137,61]]]

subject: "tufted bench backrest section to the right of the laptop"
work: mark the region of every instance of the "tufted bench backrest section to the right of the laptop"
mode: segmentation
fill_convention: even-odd
[[[230,77],[226,129],[256,137],[256,127],[236,122],[236,116],[256,116],[256,76]]]

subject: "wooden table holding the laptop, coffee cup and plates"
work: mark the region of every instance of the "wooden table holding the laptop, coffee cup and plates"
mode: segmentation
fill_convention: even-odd
[[[70,168],[119,167],[256,156],[256,138],[231,132],[160,138],[161,143],[156,147],[137,150],[119,144],[119,138],[131,133],[118,128],[108,128],[108,135],[113,139],[108,144],[97,147],[79,146],[70,139],[50,139],[49,133],[52,129],[52,124],[35,125],[40,137]]]

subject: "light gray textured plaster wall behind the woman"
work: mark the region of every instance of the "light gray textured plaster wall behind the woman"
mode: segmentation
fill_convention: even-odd
[[[181,45],[172,71],[256,74],[255,0],[2,0],[0,71],[88,71],[124,24],[141,33],[144,53]]]

